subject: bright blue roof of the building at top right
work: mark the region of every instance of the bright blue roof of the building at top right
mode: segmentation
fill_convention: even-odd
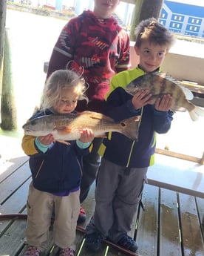
[[[192,4],[183,4],[175,1],[165,1],[172,13],[204,18],[204,7]]]

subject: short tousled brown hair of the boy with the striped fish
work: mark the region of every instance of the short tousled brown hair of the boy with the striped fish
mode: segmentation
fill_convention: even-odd
[[[135,29],[135,37],[137,47],[143,42],[149,42],[154,45],[166,45],[169,50],[175,41],[174,34],[154,18],[140,22]]]

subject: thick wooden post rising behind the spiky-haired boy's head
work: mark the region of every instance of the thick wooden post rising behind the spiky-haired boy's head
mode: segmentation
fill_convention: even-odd
[[[132,15],[131,41],[135,41],[135,27],[144,19],[159,19],[163,0],[135,0],[135,13]]]

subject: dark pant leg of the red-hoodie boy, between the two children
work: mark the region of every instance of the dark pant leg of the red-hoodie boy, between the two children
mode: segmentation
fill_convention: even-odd
[[[92,183],[95,181],[99,165],[101,164],[101,157],[98,154],[98,148],[103,142],[103,138],[95,138],[92,142],[93,148],[90,154],[86,155],[83,160],[84,171],[81,180],[80,203],[86,199]]]

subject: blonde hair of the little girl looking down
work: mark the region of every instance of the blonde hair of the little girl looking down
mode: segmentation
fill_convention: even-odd
[[[86,84],[81,76],[78,76],[73,70],[55,70],[44,85],[41,109],[55,108],[63,95],[64,89],[73,87],[78,87],[78,100],[85,99],[88,102],[88,97],[85,95]]]

